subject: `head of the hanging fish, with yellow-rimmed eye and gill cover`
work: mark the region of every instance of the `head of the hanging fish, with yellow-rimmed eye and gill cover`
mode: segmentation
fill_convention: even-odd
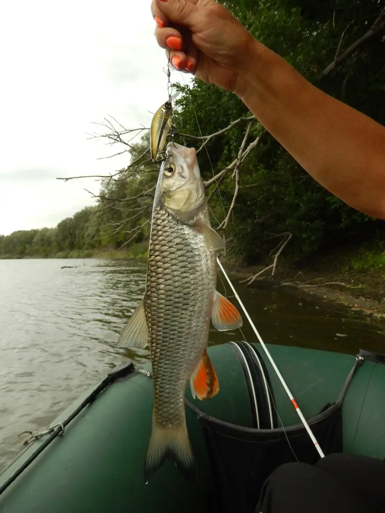
[[[205,200],[197,151],[171,142],[166,148],[158,185],[158,200],[179,215],[194,215]]]

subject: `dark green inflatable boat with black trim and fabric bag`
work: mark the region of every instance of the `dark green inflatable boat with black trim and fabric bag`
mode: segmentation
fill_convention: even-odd
[[[385,457],[385,358],[268,345],[325,454]],[[197,479],[171,461],[146,483],[151,431],[150,364],[124,362],[30,437],[0,476],[1,513],[254,513],[280,464],[319,454],[259,344],[229,342],[208,353],[220,390],[186,391]]]

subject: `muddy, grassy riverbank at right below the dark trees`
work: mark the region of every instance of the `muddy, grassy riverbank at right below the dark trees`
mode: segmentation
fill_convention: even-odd
[[[227,262],[227,268],[247,285],[272,262],[259,266],[239,266]],[[385,320],[385,252],[382,243],[352,245],[338,253],[322,255],[301,265],[282,258],[274,276],[266,270],[248,286],[286,288],[313,294],[348,306],[376,320]]]

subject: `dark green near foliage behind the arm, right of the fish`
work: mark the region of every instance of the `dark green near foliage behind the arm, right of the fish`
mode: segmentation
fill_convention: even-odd
[[[342,32],[345,34],[340,53],[369,29],[385,7],[383,1],[342,0],[337,4],[314,0],[227,0],[223,3],[259,41],[290,62],[307,80],[385,124],[385,111],[378,108],[385,102],[383,33],[369,39],[334,71],[320,78],[322,70],[334,60]],[[250,114],[234,95],[198,81],[189,96],[191,102],[187,94],[179,101],[178,129],[184,133],[198,132],[190,103],[195,107],[204,134]],[[245,124],[239,124],[207,145],[213,169],[202,152],[200,163],[206,179],[213,171],[217,173],[234,161],[245,128]],[[257,124],[254,126],[247,144],[260,129]],[[189,143],[195,144],[195,141]],[[214,188],[213,185],[210,192]],[[234,177],[227,173],[221,183],[224,208],[218,194],[210,202],[219,221],[229,208],[233,192]],[[293,257],[301,258],[316,250],[334,249],[352,239],[368,238],[377,227],[378,222],[323,189],[266,134],[240,170],[237,207],[232,223],[226,228],[226,238],[231,241],[228,254],[254,263],[276,246],[277,239],[272,234],[291,232],[293,241],[288,251]]]

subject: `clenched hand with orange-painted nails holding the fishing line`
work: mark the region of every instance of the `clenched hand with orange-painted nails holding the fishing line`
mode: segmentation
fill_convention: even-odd
[[[152,0],[155,35],[178,70],[237,93],[253,36],[215,0]]]

